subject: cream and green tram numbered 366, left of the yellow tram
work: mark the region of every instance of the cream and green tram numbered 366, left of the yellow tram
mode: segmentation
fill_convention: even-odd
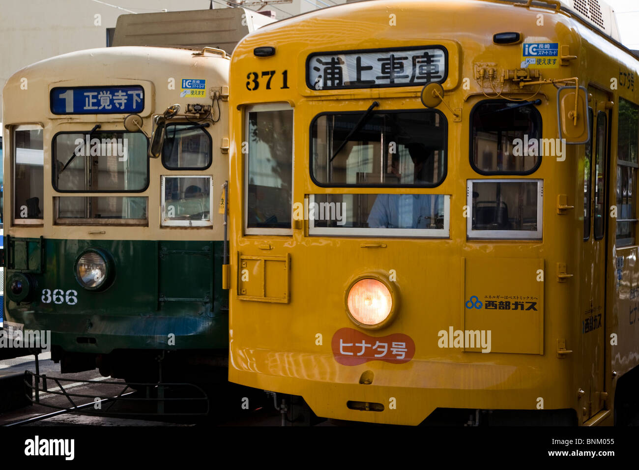
[[[50,332],[61,372],[226,376],[229,57],[111,47],[3,90],[4,328]]]

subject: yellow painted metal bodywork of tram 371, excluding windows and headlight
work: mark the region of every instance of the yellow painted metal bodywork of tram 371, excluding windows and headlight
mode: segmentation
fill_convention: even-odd
[[[537,22],[540,13],[543,26]],[[392,18],[395,21],[389,20]],[[567,146],[563,160],[543,157],[541,166],[525,176],[543,180],[541,240],[466,237],[466,182],[489,178],[473,171],[468,162],[469,114],[477,102],[487,99],[486,95],[495,97],[495,93],[482,90],[475,72],[484,67],[477,64],[492,64],[498,73],[520,68],[521,43],[492,42],[493,34],[512,30],[519,31],[525,42],[558,43],[562,51],[567,46],[570,54],[578,56],[566,61],[567,65],[539,68],[541,79],[578,77],[580,85],[606,90],[606,100],[617,103],[624,97],[639,102],[637,87],[610,90],[611,78],[617,77],[619,70],[636,76],[636,59],[578,19],[550,8],[514,8],[511,3],[479,0],[352,3],[263,27],[238,44],[231,62],[229,210],[231,253],[235,255],[231,255],[230,279],[238,283],[241,277],[235,261],[240,253],[289,256],[290,301],[246,301],[237,294],[238,285],[231,285],[229,380],[303,396],[316,414],[328,418],[417,425],[438,407],[543,407],[573,409],[582,424],[592,422],[588,421],[591,417],[596,423],[610,422],[595,417],[603,416],[599,413],[602,409],[612,409],[617,382],[611,372],[617,371],[618,378],[639,364],[639,318],[632,321],[633,308],[639,301],[631,299],[631,290],[639,282],[639,265],[636,246],[616,249],[616,222],[608,217],[607,210],[608,235],[594,240],[591,234],[588,241],[583,240],[585,145]],[[438,187],[410,192],[450,195],[449,238],[309,236],[308,221],[295,221],[290,235],[247,235],[242,154],[247,106],[283,103],[293,109],[294,202],[304,201],[309,194],[406,192],[397,188],[315,185],[309,169],[309,126],[319,113],[364,111],[373,100],[380,102],[376,110],[423,109],[422,87],[311,90],[305,82],[306,61],[309,54],[321,51],[431,44],[445,44],[450,54],[449,76],[443,83],[447,106],[438,106],[448,122],[447,175]],[[276,52],[257,58],[253,51],[261,46],[275,47]],[[275,70],[274,76],[280,78],[286,70],[288,88],[279,82],[270,89],[254,89],[249,83],[251,74],[268,70]],[[542,137],[557,138],[557,90],[551,84],[542,84],[532,92],[525,88],[525,93],[509,96],[531,95],[542,99],[537,106],[543,118]],[[609,115],[611,152],[606,174],[610,175],[610,184],[606,191],[608,200],[614,201],[616,107]],[[558,213],[558,200],[562,205],[574,206],[574,210]],[[268,252],[262,248],[265,245]],[[613,278],[613,253],[624,258],[619,285]],[[508,269],[516,269],[512,278]],[[543,281],[537,281],[539,269],[543,269]],[[401,306],[389,325],[366,333],[373,338],[406,334],[415,343],[415,354],[410,361],[399,364],[377,360],[340,364],[330,339],[342,328],[358,330],[346,313],[344,291],[353,276],[380,270],[389,273],[389,278],[391,270],[395,273],[392,282]],[[508,287],[507,292],[499,293],[500,284]],[[515,288],[539,294],[511,292]],[[511,317],[509,324],[498,321],[507,318],[503,313],[486,320],[465,309],[465,302],[470,300],[467,295],[477,289],[485,290],[486,295],[493,289],[498,292],[490,295],[537,295],[541,308],[526,320]],[[594,308],[601,308],[602,322],[601,327],[585,331],[591,299]],[[453,331],[490,327],[495,349],[483,354],[476,348],[470,352],[440,347],[438,334],[449,331],[449,327]],[[612,344],[613,333],[619,341]],[[562,354],[557,354],[558,344],[565,344]],[[362,380],[364,375],[366,380]],[[585,391],[581,397],[580,389]],[[607,400],[597,398],[601,392],[608,393]],[[350,409],[349,401],[381,403],[384,409]],[[390,406],[393,402],[395,407]]]

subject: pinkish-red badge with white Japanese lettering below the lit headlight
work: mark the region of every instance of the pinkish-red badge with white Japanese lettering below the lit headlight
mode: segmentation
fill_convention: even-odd
[[[335,331],[331,347],[335,361],[344,366],[368,361],[403,364],[415,356],[415,342],[403,333],[375,337],[353,328],[341,328]]]

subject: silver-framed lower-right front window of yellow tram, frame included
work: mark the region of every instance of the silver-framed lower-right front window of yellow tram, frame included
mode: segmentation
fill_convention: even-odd
[[[469,180],[469,239],[541,239],[541,180]]]

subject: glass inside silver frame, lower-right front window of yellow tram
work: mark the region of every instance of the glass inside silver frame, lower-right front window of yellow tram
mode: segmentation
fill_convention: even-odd
[[[537,182],[474,182],[472,230],[537,231]]]

